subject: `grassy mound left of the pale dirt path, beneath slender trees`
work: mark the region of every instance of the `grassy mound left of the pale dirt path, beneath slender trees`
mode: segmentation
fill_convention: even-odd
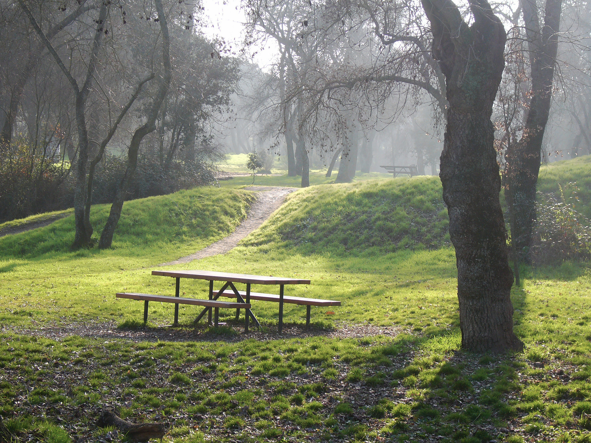
[[[205,246],[232,232],[246,216],[252,198],[247,191],[197,188],[128,201],[115,231],[112,250],[118,250],[117,255],[163,255],[187,245],[191,250]],[[100,204],[92,208],[90,222],[95,229],[95,240],[100,236],[110,207]],[[18,220],[11,223],[15,222]],[[46,253],[68,253],[73,240],[74,217],[69,216],[41,229],[2,237],[0,257],[34,258]],[[97,251],[76,254],[85,253]]]

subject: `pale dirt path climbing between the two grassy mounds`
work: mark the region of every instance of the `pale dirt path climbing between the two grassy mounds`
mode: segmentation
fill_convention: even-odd
[[[232,234],[194,254],[181,257],[173,262],[161,263],[158,266],[180,265],[181,263],[189,263],[192,260],[199,260],[228,252],[238,245],[240,240],[261,226],[261,224],[263,224],[263,222],[281,206],[288,194],[297,191],[297,188],[282,188],[277,186],[250,186],[245,189],[248,191],[256,191],[256,201],[251,205],[246,220],[244,220]]]

